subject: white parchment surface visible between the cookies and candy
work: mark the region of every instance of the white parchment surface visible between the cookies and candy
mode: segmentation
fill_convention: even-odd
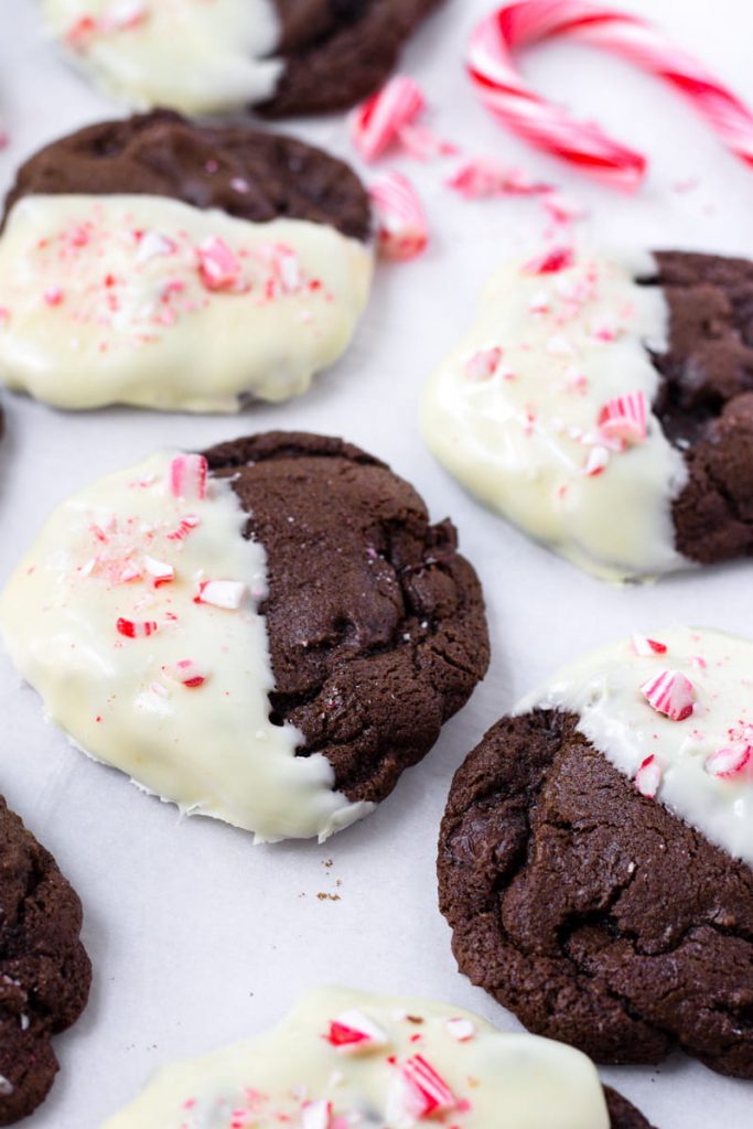
[[[748,0],[623,7],[662,21],[753,103]],[[543,90],[650,154],[650,176],[634,199],[569,174],[489,120],[461,68],[474,19],[489,8],[489,0],[448,0],[404,56],[403,69],[438,107],[438,129],[576,193],[592,212],[586,234],[753,254],[753,169],[728,156],[678,98],[628,65],[564,45],[541,49],[525,64]],[[11,137],[0,152],[5,190],[37,146],[113,107],[43,41],[32,0],[0,0],[0,120]],[[341,119],[299,131],[350,155]],[[262,1030],[321,982],[440,997],[514,1029],[510,1015],[455,971],[436,909],[435,840],[453,771],[519,694],[586,647],[669,620],[753,634],[751,564],[642,589],[606,587],[527,543],[435,465],[415,426],[419,388],[465,326],[489,271],[515,248],[536,247],[545,222],[534,201],[464,203],[441,186],[443,167],[396,164],[424,194],[430,252],[380,271],[354,347],[304,399],[236,419],[63,414],[3,397],[3,580],[51,507],[90,479],[164,444],[201,447],[255,429],[304,428],[364,445],[415,483],[436,518],[452,515],[484,584],[493,640],[489,676],[431,755],[375,816],[324,848],[253,848],[229,828],[178,822],[173,807],[145,798],[45,726],[35,695],[0,657],[0,790],[79,891],[95,965],[89,1007],[58,1040],[62,1070],[29,1129],[95,1129],[159,1064]],[[694,191],[673,190],[688,177],[699,178]],[[751,1124],[753,1084],[681,1056],[659,1070],[604,1076],[659,1129]]]

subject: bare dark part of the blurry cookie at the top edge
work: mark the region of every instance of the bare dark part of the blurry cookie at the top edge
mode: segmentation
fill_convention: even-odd
[[[354,106],[376,90],[404,41],[441,0],[274,0],[284,70],[270,117]]]

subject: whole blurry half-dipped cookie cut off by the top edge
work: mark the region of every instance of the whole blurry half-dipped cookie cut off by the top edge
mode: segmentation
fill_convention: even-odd
[[[43,0],[49,32],[135,110],[272,116],[354,105],[440,0]]]

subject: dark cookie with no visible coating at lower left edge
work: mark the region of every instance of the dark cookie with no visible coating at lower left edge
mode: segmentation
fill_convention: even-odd
[[[81,903],[0,796],[0,1124],[28,1117],[58,1071],[52,1036],[76,1023],[91,966]]]

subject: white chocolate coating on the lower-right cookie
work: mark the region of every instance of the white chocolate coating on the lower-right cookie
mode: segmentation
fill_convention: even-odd
[[[621,772],[634,778],[647,758],[659,772],[656,798],[675,815],[753,866],[753,754],[741,771],[715,774],[720,750],[753,751],[753,641],[707,628],[651,634],[662,654],[639,655],[631,640],[603,647],[559,671],[516,707],[570,710],[578,729]],[[641,686],[677,671],[693,688],[692,714],[672,720]]]

